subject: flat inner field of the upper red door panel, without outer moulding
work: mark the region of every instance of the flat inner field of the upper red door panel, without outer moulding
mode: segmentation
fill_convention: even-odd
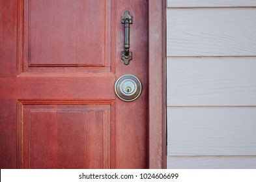
[[[104,66],[106,6],[103,1],[24,3],[24,7],[28,6],[24,10],[29,65]]]

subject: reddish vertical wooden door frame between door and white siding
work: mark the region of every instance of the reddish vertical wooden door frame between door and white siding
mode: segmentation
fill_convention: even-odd
[[[149,1],[149,168],[166,168],[165,6]]]

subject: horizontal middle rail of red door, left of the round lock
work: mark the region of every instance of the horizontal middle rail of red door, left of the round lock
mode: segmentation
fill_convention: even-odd
[[[5,99],[115,99],[115,77],[14,77],[0,78],[0,95]]]

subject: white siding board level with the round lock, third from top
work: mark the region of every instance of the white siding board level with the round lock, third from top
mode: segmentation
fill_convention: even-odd
[[[167,58],[168,106],[255,106],[255,57]]]

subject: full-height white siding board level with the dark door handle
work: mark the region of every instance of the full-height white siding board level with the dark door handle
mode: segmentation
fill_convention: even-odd
[[[167,57],[256,56],[255,8],[167,9]]]

